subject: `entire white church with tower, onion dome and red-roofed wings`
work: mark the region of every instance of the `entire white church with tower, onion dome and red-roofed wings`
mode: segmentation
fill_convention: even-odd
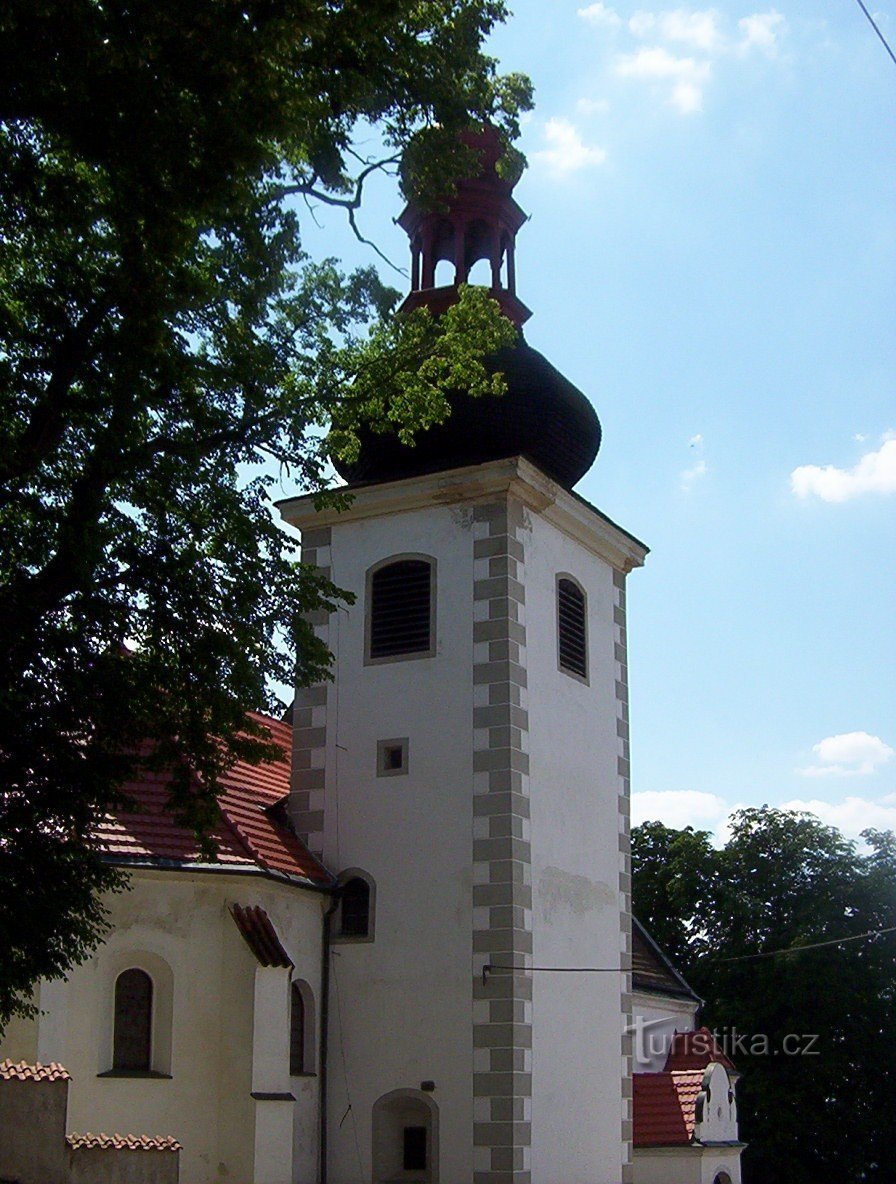
[[[497,137],[470,142],[478,175],[400,218],[404,308],[485,259],[507,393],[456,395],[413,449],[365,433],[348,508],[279,504],[354,594],[312,622],[333,680],[262,720],[283,757],[227,774],[213,861],[163,779],[128,787],[101,838],[131,887],[7,1029],[0,1122],[53,1064],[59,1139],[168,1140],[181,1184],[740,1184],[734,1066],[631,914],[646,547],[574,493],[600,425],[523,337],[524,214]],[[39,1141],[0,1128],[0,1178],[31,1184]]]

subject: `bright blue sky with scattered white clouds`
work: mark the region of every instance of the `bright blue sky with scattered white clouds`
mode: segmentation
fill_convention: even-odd
[[[856,837],[896,829],[896,65],[853,0],[754,5],[517,0],[517,291],[604,427],[578,491],[651,548],[633,821]],[[400,205],[376,181],[361,226],[404,264]],[[318,220],[309,250],[379,264]]]

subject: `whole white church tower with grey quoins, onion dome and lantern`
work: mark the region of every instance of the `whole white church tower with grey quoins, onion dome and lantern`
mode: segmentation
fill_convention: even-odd
[[[523,339],[524,215],[497,136],[450,208],[408,206],[434,311],[486,259],[520,328],[498,399],[458,393],[417,448],[373,433],[348,509],[281,503],[355,601],[315,622],[291,813],[340,874],[329,1184],[631,1179],[625,580],[646,548],[574,494],[585,395]],[[437,285],[446,260],[451,283]]]

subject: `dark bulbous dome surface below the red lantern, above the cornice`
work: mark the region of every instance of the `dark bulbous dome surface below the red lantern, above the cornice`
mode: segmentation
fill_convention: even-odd
[[[336,471],[356,484],[524,456],[572,489],[600,448],[600,422],[592,405],[522,335],[517,345],[488,359],[486,366],[504,374],[505,394],[452,395],[450,418],[420,432],[413,448],[395,436],[362,430],[357,459],[334,459]]]

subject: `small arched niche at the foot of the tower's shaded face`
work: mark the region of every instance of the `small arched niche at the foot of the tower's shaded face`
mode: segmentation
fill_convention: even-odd
[[[393,1089],[373,1107],[373,1184],[438,1184],[438,1106],[417,1089]]]

